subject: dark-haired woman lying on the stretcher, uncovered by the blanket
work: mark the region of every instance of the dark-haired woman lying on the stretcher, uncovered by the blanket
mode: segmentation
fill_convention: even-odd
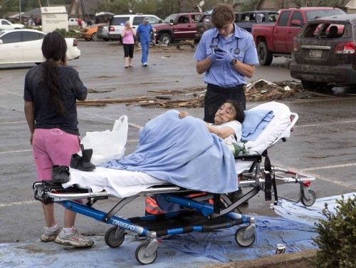
[[[188,116],[186,111],[179,113],[179,118]],[[214,124],[206,123],[210,133],[214,133],[224,139],[226,145],[240,143],[242,130],[241,123],[244,121],[244,110],[234,100],[226,100],[217,110],[214,117]]]

